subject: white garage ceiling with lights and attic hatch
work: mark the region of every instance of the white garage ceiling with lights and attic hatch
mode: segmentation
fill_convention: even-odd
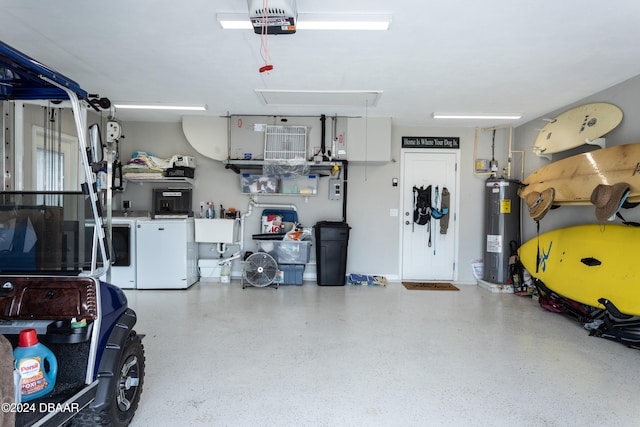
[[[416,126],[478,125],[435,121],[433,112],[517,112],[522,119],[491,125],[518,125],[640,74],[634,1],[297,0],[297,7],[389,13],[393,21],[383,32],[269,36],[269,73],[258,71],[259,35],[218,25],[218,13],[246,13],[244,0],[3,0],[0,40],[113,102],[206,104],[210,115],[392,116]],[[313,100],[262,97],[282,91]],[[381,94],[375,103],[321,105],[333,102],[318,96],[325,91]],[[179,121],[181,114],[116,117]]]

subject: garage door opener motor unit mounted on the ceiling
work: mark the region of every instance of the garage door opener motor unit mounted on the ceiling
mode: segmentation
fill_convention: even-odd
[[[295,0],[247,0],[249,19],[256,34],[293,34],[298,11]]]

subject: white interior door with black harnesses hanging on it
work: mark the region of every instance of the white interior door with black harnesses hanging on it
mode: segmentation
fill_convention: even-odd
[[[457,278],[455,264],[457,226],[455,222],[458,197],[457,150],[403,150],[403,220],[402,279],[446,280]],[[414,223],[415,197],[413,187],[431,186],[431,205],[440,208],[442,193],[449,190],[449,223],[441,230],[443,219],[431,218],[428,224]],[[437,191],[436,191],[437,189]]]

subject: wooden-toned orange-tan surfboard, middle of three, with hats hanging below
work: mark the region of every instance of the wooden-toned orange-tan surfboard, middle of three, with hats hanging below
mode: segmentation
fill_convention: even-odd
[[[554,205],[586,205],[598,184],[626,182],[629,202],[640,201],[640,143],[582,153],[544,166],[526,177],[518,194],[555,189]]]

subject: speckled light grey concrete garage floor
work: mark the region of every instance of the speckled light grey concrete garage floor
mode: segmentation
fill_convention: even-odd
[[[146,334],[131,425],[638,425],[638,350],[460,288],[126,291]]]

